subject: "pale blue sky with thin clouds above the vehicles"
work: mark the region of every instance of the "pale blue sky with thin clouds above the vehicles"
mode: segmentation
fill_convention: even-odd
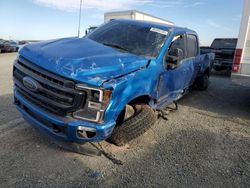
[[[80,0],[0,0],[0,38],[52,39],[77,35]],[[198,32],[201,43],[237,37],[243,0],[83,0],[81,35],[108,11],[136,9]]]

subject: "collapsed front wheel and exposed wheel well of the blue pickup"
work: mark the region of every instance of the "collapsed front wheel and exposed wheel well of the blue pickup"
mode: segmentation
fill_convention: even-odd
[[[121,146],[145,133],[156,122],[157,115],[149,105],[150,96],[134,98],[120,111],[111,137],[112,143]]]

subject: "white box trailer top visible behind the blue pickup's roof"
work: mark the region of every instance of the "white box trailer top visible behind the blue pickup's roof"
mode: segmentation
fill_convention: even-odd
[[[104,14],[104,22],[108,22],[114,19],[132,19],[132,20],[145,20],[151,22],[158,22],[168,25],[174,25],[173,22],[161,19],[150,14],[140,12],[137,10],[127,10],[127,11],[118,11],[118,12],[107,12]]]

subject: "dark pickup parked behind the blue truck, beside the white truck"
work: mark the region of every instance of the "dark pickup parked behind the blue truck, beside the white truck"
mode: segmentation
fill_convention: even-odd
[[[236,44],[236,38],[216,38],[210,47],[202,47],[201,50],[205,53],[215,53],[213,68],[216,71],[227,70],[227,73],[230,74],[232,70]]]

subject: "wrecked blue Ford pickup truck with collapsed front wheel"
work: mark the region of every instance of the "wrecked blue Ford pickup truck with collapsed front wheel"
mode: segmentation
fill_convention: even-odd
[[[113,20],[83,38],[26,45],[13,68],[16,107],[56,139],[123,145],[190,87],[207,89],[214,54],[200,55],[198,41],[187,28]]]

